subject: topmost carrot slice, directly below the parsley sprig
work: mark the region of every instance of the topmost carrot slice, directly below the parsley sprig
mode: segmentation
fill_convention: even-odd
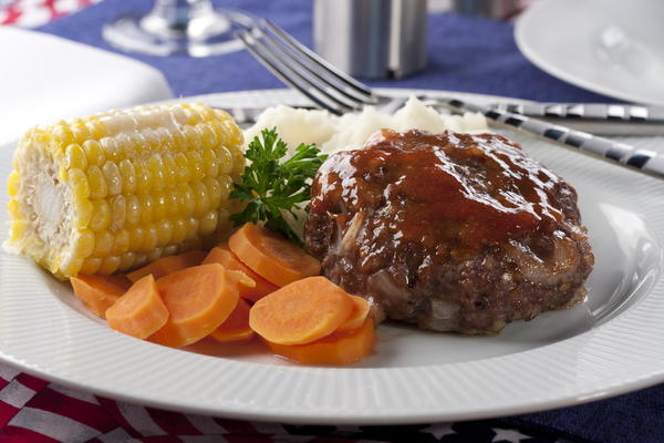
[[[228,246],[245,265],[277,286],[321,274],[321,262],[304,249],[252,223],[231,235]]]

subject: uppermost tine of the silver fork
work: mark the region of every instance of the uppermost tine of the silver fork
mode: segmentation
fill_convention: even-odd
[[[256,28],[256,31],[260,32],[261,37],[269,42],[271,47],[277,49],[283,56],[298,64],[304,72],[315,76],[319,84],[322,84],[325,87],[335,91],[335,93],[340,94],[341,96],[351,100],[353,107],[359,109],[365,104],[376,104],[375,97],[367,97],[366,94],[360,93],[356,90],[349,87],[347,84],[340,82],[339,79],[336,79],[330,71],[320,68],[320,65],[317,63],[313,63],[307,56],[307,54],[302,53],[298,48],[292,47],[291,43],[284,41],[280,35],[270,32],[270,30],[266,27]]]

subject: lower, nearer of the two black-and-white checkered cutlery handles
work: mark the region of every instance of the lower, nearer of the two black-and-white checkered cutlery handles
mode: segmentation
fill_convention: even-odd
[[[657,178],[664,178],[664,157],[653,151],[637,150],[625,143],[619,143],[581,131],[573,131],[564,126],[515,114],[507,110],[480,106],[457,99],[439,99],[437,102],[445,104],[456,112],[478,112],[490,121],[510,128],[535,134],[547,141],[591,154],[620,166],[637,169]]]

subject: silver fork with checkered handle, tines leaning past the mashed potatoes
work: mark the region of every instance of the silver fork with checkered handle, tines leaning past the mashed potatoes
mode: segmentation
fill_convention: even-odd
[[[375,93],[371,87],[334,68],[269,20],[261,19],[251,29],[240,31],[238,38],[245,43],[247,50],[277,78],[333,114],[360,111],[365,105],[373,105],[382,112],[392,113],[405,102],[405,99]],[[577,152],[664,178],[664,157],[653,151],[639,150],[625,143],[530,119],[506,109],[481,106],[454,97],[436,96],[434,101],[423,99],[427,104],[443,105],[454,112],[478,112],[498,126],[536,135]]]

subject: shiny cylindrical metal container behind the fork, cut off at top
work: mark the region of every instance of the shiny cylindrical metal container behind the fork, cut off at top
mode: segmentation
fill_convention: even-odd
[[[427,0],[315,0],[314,49],[353,76],[401,79],[426,65]]]

